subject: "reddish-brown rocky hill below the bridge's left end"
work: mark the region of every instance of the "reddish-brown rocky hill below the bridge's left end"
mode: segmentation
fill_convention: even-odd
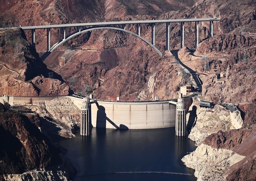
[[[22,29],[0,32],[0,92],[11,96],[68,95],[69,86],[47,69]],[[53,78],[48,77],[52,72]]]

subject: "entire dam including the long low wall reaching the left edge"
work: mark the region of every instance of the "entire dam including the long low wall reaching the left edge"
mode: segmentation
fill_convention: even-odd
[[[80,110],[86,98],[75,95],[53,97],[0,96],[1,102],[10,106],[24,105],[54,98],[70,98]],[[175,127],[177,99],[164,101],[104,101],[90,100],[93,127],[112,129],[154,129]],[[186,109],[192,98],[184,98]],[[187,111],[186,110],[186,111]]]

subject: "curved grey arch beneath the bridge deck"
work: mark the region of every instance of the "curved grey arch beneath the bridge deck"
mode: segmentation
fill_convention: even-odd
[[[70,36],[66,37],[65,39],[55,43],[49,50],[49,52],[53,52],[56,48],[58,48],[60,45],[62,45],[63,43],[65,43],[66,41],[70,40],[71,38],[75,37],[75,36],[78,36],[82,33],[85,33],[85,32],[88,32],[88,31],[92,31],[92,30],[100,30],[100,29],[113,29],[113,30],[120,30],[120,31],[124,31],[126,33],[129,33],[129,34],[132,34],[136,37],[138,37],[139,39],[143,40],[145,43],[147,43],[150,47],[152,47],[161,57],[162,57],[162,52],[160,52],[159,49],[157,49],[157,47],[155,47],[152,43],[150,43],[148,40],[144,39],[143,37],[131,32],[131,31],[128,31],[128,30],[125,30],[125,29],[121,29],[121,28],[116,28],[116,27],[95,27],[95,28],[89,28],[89,29],[85,29],[85,30],[82,30],[82,31],[78,31],[74,34],[71,34]]]

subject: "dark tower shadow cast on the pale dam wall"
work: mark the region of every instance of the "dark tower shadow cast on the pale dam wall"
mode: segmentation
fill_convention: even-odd
[[[113,125],[116,129],[129,129],[124,124],[120,124],[120,126],[117,126],[113,121],[111,121],[110,118],[107,117],[105,108],[103,106],[98,106],[97,111],[97,119],[96,119],[96,127],[97,128],[106,128],[107,121]]]

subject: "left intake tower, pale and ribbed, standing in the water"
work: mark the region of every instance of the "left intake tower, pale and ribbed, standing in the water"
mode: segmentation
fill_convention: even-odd
[[[87,96],[84,98],[81,108],[81,123],[80,123],[80,135],[90,136],[92,131],[92,115],[90,98]]]

